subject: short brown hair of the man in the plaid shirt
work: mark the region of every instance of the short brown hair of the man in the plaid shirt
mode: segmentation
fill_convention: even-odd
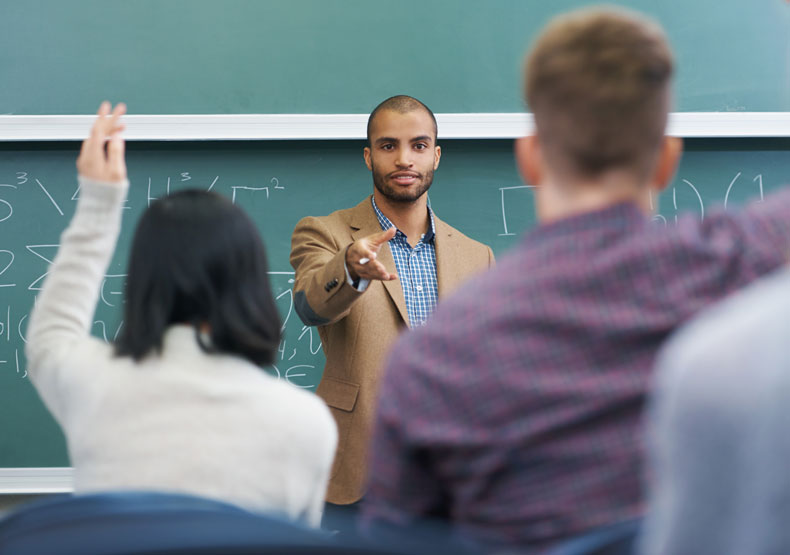
[[[637,14],[584,9],[552,21],[527,58],[525,87],[547,163],[574,177],[645,177],[666,128],[672,69],[663,31]]]

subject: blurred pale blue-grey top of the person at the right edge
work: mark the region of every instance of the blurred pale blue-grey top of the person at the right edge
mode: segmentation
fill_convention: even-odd
[[[673,338],[651,409],[644,553],[790,553],[790,270]]]

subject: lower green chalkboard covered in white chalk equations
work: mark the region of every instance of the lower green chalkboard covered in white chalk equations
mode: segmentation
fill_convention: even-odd
[[[372,191],[361,142],[131,143],[131,181],[119,248],[102,287],[93,333],[111,340],[132,229],[149,200],[212,188],[255,219],[269,253],[285,338],[268,371],[314,389],[324,358],[315,329],[292,310],[290,235],[305,215],[356,204]],[[443,219],[498,256],[534,225],[533,192],[516,174],[510,141],[446,141],[430,192]],[[68,464],[62,435],[26,377],[27,314],[78,195],[76,143],[0,144],[0,466]],[[725,201],[760,198],[790,178],[790,139],[688,141],[674,184],[656,199],[656,225],[699,217]],[[200,245],[196,245],[200,248]]]

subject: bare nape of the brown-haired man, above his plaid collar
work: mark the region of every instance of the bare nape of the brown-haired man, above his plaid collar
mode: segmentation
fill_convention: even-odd
[[[542,224],[597,212],[615,204],[630,202],[646,216],[652,214],[653,188],[636,182],[631,175],[606,175],[594,180],[547,178],[535,189],[538,220]]]

